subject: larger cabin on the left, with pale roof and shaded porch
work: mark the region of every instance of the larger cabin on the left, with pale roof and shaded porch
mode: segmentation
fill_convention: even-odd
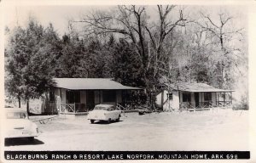
[[[110,78],[54,78],[49,90],[49,105],[58,112],[87,112],[96,104],[124,104],[129,94],[142,90],[114,82]],[[50,106],[48,107],[50,108]]]

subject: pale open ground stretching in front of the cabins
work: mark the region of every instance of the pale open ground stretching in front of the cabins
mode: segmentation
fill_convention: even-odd
[[[121,121],[90,124],[86,116],[39,124],[35,143],[6,150],[249,150],[246,110],[126,113]],[[20,141],[24,141],[20,143]]]

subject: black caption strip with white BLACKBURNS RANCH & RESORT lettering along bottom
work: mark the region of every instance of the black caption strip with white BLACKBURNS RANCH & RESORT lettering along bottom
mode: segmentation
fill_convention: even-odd
[[[6,160],[239,160],[249,151],[4,151]]]

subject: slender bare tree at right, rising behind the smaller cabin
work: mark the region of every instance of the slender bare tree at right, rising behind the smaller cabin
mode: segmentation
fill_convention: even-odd
[[[200,13],[202,20],[197,22],[201,31],[208,32],[208,38],[212,46],[213,59],[217,66],[217,73],[220,79],[219,87],[228,87],[230,79],[230,70],[232,65],[238,68],[237,53],[241,52],[240,48],[234,47],[234,42],[243,37],[243,29],[234,29],[230,14],[221,12],[214,18],[213,15]],[[210,37],[209,37],[210,36]]]

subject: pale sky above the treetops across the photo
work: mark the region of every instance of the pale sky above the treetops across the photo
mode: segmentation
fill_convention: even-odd
[[[89,14],[93,10],[109,11],[113,6],[67,6],[67,5],[41,5],[41,6],[29,6],[29,5],[10,5],[5,7],[4,11],[4,24],[12,29],[16,25],[25,26],[27,24],[30,15],[38,20],[39,24],[47,26],[52,23],[55,27],[55,31],[62,36],[67,33],[68,20],[79,20],[81,15]],[[178,7],[181,8],[181,7]],[[193,16],[198,13],[199,10],[216,13],[225,8],[230,11],[231,14],[236,16],[236,25],[246,26],[246,12],[245,7],[241,6],[184,6],[185,11],[189,13],[189,16]],[[156,8],[148,7],[151,18],[156,18]]]

